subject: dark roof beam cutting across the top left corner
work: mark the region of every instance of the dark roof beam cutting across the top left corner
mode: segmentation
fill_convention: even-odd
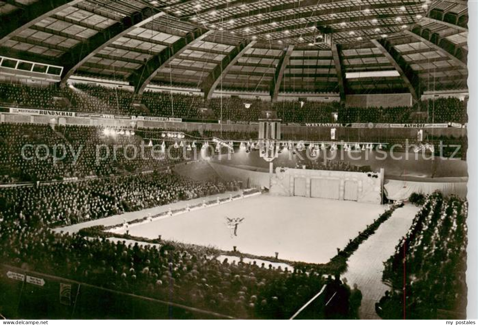
[[[37,22],[82,0],[39,0],[1,17],[0,44]]]

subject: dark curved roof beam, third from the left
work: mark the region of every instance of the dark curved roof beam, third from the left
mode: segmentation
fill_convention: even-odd
[[[144,89],[149,85],[151,80],[158,74],[161,67],[169,65],[175,56],[179,56],[187,48],[186,45],[194,45],[202,41],[206,36],[212,34],[214,31],[209,30],[205,32],[203,29],[196,29],[194,35],[189,34],[186,37],[174,42],[168,48],[165,48],[161,53],[149,59],[139,70],[131,76],[131,84],[135,86],[136,93],[141,95]],[[187,68],[187,67],[186,67]]]

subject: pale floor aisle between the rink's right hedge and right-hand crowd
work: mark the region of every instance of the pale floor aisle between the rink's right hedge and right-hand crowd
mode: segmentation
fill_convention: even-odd
[[[350,287],[357,283],[362,291],[361,319],[380,319],[375,313],[375,303],[389,290],[381,280],[383,262],[395,252],[395,246],[407,233],[418,210],[412,204],[396,210],[348,259],[348,270],[342,277],[347,278]]]

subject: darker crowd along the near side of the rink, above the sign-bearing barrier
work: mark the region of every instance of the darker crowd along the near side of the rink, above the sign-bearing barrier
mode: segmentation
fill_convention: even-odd
[[[22,224],[0,230],[5,263],[238,318],[288,318],[325,282],[316,273],[221,263],[200,247],[88,240]]]

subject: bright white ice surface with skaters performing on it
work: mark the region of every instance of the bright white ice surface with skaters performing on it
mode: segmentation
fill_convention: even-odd
[[[377,218],[385,206],[303,197],[258,195],[146,224],[130,225],[134,236],[215,246],[243,253],[326,263]],[[244,218],[231,237],[226,217]],[[124,229],[117,233],[124,233]]]

